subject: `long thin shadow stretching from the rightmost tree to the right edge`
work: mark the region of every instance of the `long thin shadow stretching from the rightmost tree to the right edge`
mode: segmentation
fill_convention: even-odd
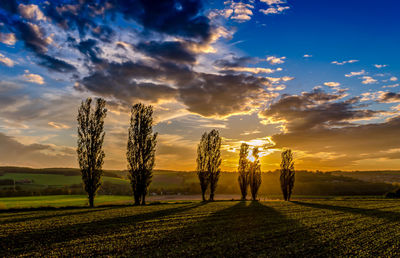
[[[398,222],[400,213],[394,211],[382,211],[378,209],[364,209],[364,208],[353,208],[353,207],[346,207],[346,206],[335,206],[329,204],[322,204],[322,203],[310,203],[310,202],[300,202],[300,201],[293,201],[293,203],[312,207],[316,209],[327,209],[333,211],[341,211],[341,212],[348,212],[353,214],[360,214],[364,216],[379,218],[379,219],[386,219],[392,222]]]

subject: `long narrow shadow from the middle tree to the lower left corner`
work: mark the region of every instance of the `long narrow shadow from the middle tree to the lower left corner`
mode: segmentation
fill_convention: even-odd
[[[62,225],[33,232],[10,234],[0,238],[0,250],[4,250],[5,252],[2,253],[2,251],[0,251],[0,256],[18,256],[26,252],[47,250],[51,248],[52,244],[56,243],[68,242],[88,236],[112,234],[118,232],[118,230],[124,226],[131,226],[138,222],[154,220],[176,213],[185,212],[203,204],[204,203],[184,204],[180,207],[166,208],[132,216],[119,216],[92,222]],[[153,207],[154,206],[156,205],[153,205]],[[131,208],[134,209],[133,206],[131,206]]]

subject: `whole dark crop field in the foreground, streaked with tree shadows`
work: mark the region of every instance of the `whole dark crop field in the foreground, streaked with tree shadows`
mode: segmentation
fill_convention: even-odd
[[[399,256],[396,200],[0,212],[0,256]]]

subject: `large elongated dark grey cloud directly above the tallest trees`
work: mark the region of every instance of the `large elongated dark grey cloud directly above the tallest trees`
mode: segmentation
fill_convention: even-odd
[[[190,112],[223,117],[252,112],[259,107],[262,101],[268,100],[265,87],[269,84],[263,77],[198,73],[171,63],[148,66],[128,62],[109,64],[106,71],[84,78],[77,89],[87,89],[129,104],[137,100],[153,103],[179,100]]]

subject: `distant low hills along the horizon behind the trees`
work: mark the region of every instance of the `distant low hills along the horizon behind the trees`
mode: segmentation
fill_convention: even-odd
[[[199,194],[200,187],[195,172],[155,170],[150,193]],[[221,173],[217,194],[239,194],[237,173]],[[381,177],[381,178],[380,178]],[[368,172],[308,172],[296,171],[295,195],[344,196],[383,195],[395,190],[400,178],[398,171]],[[15,184],[11,185],[14,180]],[[71,168],[32,169],[0,167],[0,196],[8,194],[45,195],[83,194],[80,171]],[[18,193],[15,190],[20,191]],[[9,191],[9,192],[5,192]],[[104,171],[102,194],[130,195],[131,186],[127,171]],[[260,196],[279,195],[279,171],[262,173]]]

